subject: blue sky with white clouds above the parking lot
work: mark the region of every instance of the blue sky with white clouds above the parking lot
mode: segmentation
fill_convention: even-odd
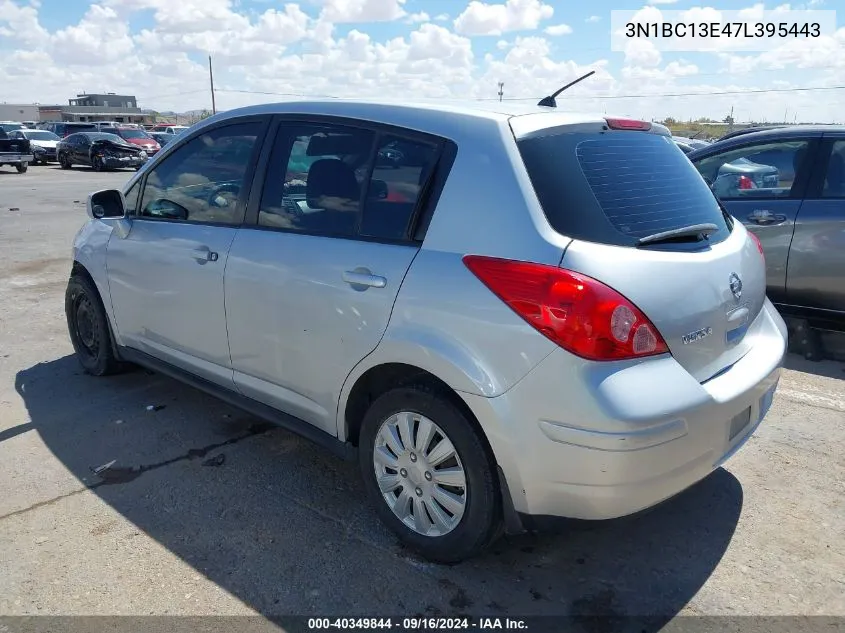
[[[845,29],[750,53],[610,50],[611,10],[766,9],[754,0],[0,0],[0,101],[129,92],[145,107],[207,107],[288,95],[542,96],[578,74],[573,109],[648,118],[845,121]],[[834,9],[833,0],[791,8]],[[39,81],[22,81],[39,77]],[[779,90],[782,92],[742,91]],[[703,96],[663,96],[685,95]],[[267,94],[273,93],[273,94]],[[839,117],[837,119],[837,117]]]

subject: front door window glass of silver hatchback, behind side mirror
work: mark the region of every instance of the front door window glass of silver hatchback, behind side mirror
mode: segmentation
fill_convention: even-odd
[[[237,123],[191,139],[150,170],[140,215],[240,224],[240,192],[262,128]]]

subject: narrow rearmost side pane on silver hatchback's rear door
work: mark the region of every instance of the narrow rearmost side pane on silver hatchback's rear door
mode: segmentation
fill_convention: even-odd
[[[364,201],[361,235],[404,239],[426,182],[434,172],[438,148],[395,136],[381,136]]]

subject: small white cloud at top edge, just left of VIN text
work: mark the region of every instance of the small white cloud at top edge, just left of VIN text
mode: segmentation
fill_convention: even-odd
[[[504,4],[472,0],[455,18],[455,31],[464,35],[501,35],[533,30],[553,14],[554,9],[541,0],[507,0]]]

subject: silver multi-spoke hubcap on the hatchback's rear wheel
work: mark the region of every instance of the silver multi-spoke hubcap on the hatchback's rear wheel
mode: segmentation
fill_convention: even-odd
[[[463,463],[443,429],[425,416],[402,411],[385,420],[373,466],[385,502],[415,532],[443,536],[461,522],[468,496]]]

